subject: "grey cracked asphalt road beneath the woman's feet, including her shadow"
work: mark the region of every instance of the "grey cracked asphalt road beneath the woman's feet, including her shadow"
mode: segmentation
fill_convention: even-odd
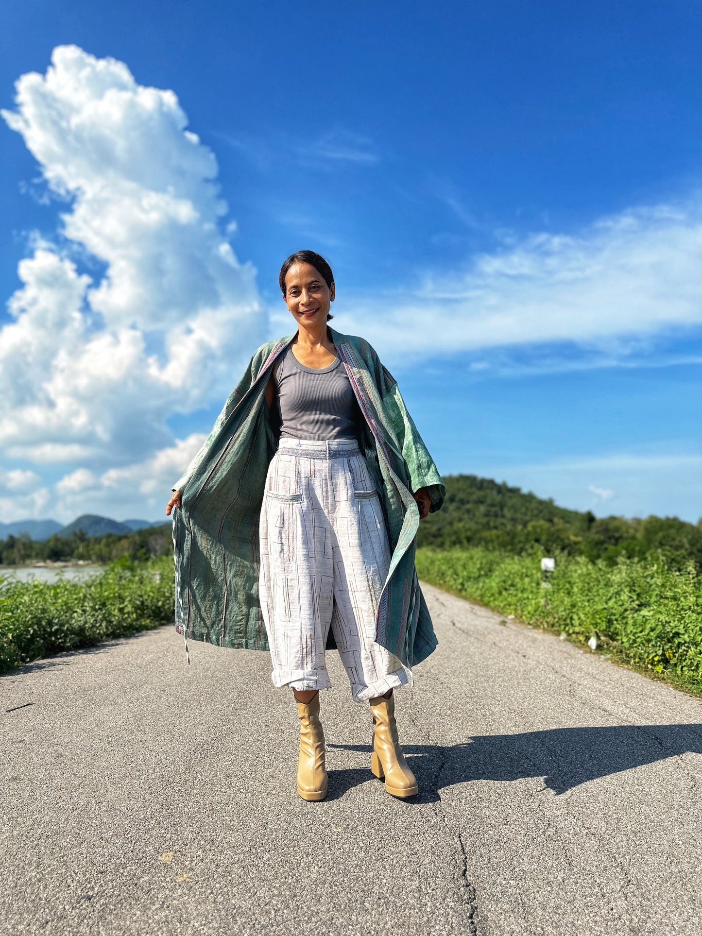
[[[266,653],[188,668],[166,627],[0,679],[5,936],[698,936],[702,702],[425,594],[440,646],[397,695],[416,801],[371,775],[336,653],[322,803]]]

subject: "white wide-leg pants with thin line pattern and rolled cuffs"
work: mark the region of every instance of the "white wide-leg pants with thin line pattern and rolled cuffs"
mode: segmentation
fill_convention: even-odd
[[[266,478],[259,534],[259,597],[273,683],[329,688],[329,626],[357,702],[407,682],[400,660],[373,639],[390,550],[357,442],[281,439]]]

